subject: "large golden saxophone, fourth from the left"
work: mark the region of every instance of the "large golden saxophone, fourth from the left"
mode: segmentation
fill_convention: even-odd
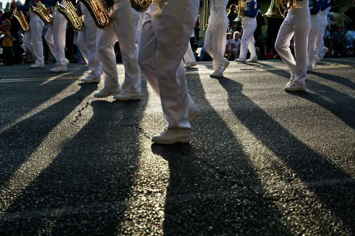
[[[88,11],[90,15],[94,19],[96,26],[99,29],[107,29],[110,25],[111,18],[109,16],[108,11],[102,4],[101,0],[79,0],[81,1]]]

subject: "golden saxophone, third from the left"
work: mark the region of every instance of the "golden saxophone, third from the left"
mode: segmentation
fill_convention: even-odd
[[[77,15],[73,4],[69,0],[63,0],[63,2],[66,5],[66,7],[64,7],[59,2],[57,2],[57,4],[55,5],[54,12],[55,13],[59,12],[62,15],[64,15],[67,21],[69,21],[72,24],[74,31],[82,30],[84,27],[84,23],[81,20],[81,18]]]

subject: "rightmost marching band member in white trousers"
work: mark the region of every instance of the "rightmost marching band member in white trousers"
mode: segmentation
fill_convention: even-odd
[[[328,13],[332,7],[331,0],[323,0],[322,1],[322,8],[320,12],[320,24],[319,28],[321,29],[318,35],[316,50],[317,50],[317,57],[320,60],[323,60],[323,57],[327,54],[328,48],[324,46],[323,36],[326,32],[326,28],[328,25]]]

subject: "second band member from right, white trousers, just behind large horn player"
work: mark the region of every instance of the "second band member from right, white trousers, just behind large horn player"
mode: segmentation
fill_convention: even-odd
[[[322,0],[309,0],[309,9],[311,13],[311,28],[308,34],[307,46],[307,71],[312,71],[320,59],[316,56],[316,43],[319,37],[322,7]]]

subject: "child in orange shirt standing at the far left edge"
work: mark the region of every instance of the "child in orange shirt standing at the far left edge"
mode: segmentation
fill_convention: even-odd
[[[4,38],[1,41],[2,46],[2,55],[5,66],[12,66],[12,39],[13,36],[10,32],[11,22],[8,19],[5,19],[2,22],[2,27],[4,32],[1,32],[1,35],[4,35]]]

